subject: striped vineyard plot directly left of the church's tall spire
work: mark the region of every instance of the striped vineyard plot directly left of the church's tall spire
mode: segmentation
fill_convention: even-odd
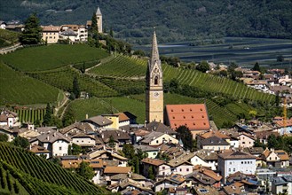
[[[90,73],[122,78],[145,77],[146,60],[117,55],[115,58],[102,63],[100,66],[92,68]]]

